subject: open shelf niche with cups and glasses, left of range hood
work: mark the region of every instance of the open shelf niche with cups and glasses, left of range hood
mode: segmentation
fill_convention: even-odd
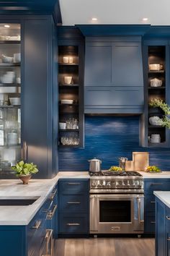
[[[63,57],[71,57],[73,63],[64,63]],[[79,77],[79,46],[58,46],[58,88],[59,88],[59,122],[73,120],[78,122],[74,127],[60,129],[58,135],[59,148],[82,147],[81,123],[81,82]],[[66,83],[65,77],[72,77],[71,83]],[[73,104],[63,104],[61,100],[73,100]],[[74,129],[73,129],[74,128]],[[63,145],[62,137],[70,138],[76,145]],[[69,142],[68,142],[69,143]],[[70,142],[72,143],[72,142]]]

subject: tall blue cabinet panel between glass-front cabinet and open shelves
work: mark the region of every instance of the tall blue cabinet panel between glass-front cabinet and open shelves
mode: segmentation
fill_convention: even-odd
[[[57,33],[50,15],[1,16],[21,25],[21,148],[23,158],[39,168],[37,178],[57,170]],[[5,172],[6,174],[7,172]],[[6,178],[13,178],[10,176]],[[1,175],[4,179],[4,175]]]

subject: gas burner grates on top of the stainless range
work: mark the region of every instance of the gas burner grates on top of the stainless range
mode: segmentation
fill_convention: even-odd
[[[99,171],[89,172],[90,176],[142,176],[137,171]]]

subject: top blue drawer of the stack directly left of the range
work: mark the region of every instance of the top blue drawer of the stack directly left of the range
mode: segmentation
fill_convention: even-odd
[[[89,180],[69,179],[59,182],[61,195],[85,195],[89,194]]]

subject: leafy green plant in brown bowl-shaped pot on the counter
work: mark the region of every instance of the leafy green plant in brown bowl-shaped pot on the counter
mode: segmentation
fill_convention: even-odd
[[[32,174],[37,174],[38,169],[34,163],[24,163],[19,161],[15,166],[12,166],[12,170],[16,171],[16,176],[22,180],[23,184],[28,184]]]

